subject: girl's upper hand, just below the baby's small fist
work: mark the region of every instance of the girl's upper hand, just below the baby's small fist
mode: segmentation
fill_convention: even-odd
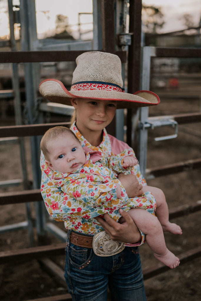
[[[143,194],[142,185],[137,181],[136,175],[124,175],[124,173],[120,173],[118,175],[118,180],[124,186],[128,197],[137,197]]]

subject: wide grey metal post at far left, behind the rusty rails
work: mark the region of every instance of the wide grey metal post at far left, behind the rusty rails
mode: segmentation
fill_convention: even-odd
[[[36,50],[37,32],[36,32],[36,8],[35,1],[20,0],[20,20],[22,28],[22,45],[23,51]],[[40,81],[39,64],[25,63],[25,85],[26,85],[26,104],[28,123],[37,123],[36,116],[36,91]],[[40,187],[41,171],[39,167],[39,137],[30,137],[31,157],[33,166],[33,189]],[[46,221],[44,215],[44,204],[38,202],[35,204],[36,209],[36,229],[39,239],[46,233]]]

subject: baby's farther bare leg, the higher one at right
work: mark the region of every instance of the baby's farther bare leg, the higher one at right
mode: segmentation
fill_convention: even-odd
[[[165,194],[159,188],[152,186],[143,186],[143,193],[150,191],[156,199],[155,214],[162,225],[163,231],[168,231],[173,234],[182,234],[182,230],[179,225],[169,222],[168,204],[165,200]]]

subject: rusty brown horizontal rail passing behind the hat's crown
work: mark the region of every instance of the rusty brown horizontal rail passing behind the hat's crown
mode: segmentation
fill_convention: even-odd
[[[110,12],[111,13],[111,12]],[[108,39],[108,36],[106,37]],[[92,51],[92,50],[88,50]],[[75,61],[77,56],[86,50],[74,51],[1,51],[0,63],[36,63],[36,62],[67,62]],[[126,61],[126,52],[115,51],[122,63]]]

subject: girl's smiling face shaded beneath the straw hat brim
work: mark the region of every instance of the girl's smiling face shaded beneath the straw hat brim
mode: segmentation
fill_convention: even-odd
[[[71,104],[76,109],[77,128],[83,135],[86,130],[102,132],[111,123],[117,108],[115,101],[84,98],[71,99]]]

